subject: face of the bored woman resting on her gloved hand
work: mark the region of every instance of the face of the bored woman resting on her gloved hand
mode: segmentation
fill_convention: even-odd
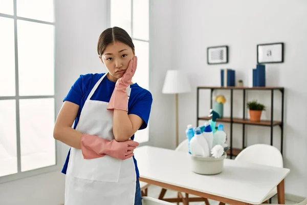
[[[135,56],[133,50],[121,42],[107,45],[100,59],[111,74],[112,81],[122,77],[128,67],[129,61]]]

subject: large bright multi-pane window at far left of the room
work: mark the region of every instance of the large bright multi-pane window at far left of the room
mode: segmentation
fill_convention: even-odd
[[[56,165],[53,0],[0,1],[0,182]]]

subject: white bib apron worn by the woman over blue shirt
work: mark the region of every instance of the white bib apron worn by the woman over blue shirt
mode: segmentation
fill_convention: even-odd
[[[91,100],[103,75],[87,97],[76,130],[114,139],[113,111],[107,102]],[[128,99],[130,86],[127,88]],[[71,148],[65,183],[65,205],[134,205],[136,170],[133,157],[120,160],[108,155],[84,159],[80,149]]]

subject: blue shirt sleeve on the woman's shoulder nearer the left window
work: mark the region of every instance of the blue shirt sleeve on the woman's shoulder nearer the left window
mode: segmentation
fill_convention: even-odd
[[[78,106],[81,105],[81,99],[84,95],[83,89],[83,75],[75,81],[74,85],[69,90],[68,94],[64,97],[63,101],[70,101]]]

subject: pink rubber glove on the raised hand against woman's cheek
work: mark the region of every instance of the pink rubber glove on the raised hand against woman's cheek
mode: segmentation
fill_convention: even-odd
[[[119,78],[115,84],[114,91],[107,106],[107,110],[124,110],[128,111],[128,94],[127,87],[131,83],[131,79],[137,70],[138,58],[133,57],[129,61],[129,65],[125,73]]]

